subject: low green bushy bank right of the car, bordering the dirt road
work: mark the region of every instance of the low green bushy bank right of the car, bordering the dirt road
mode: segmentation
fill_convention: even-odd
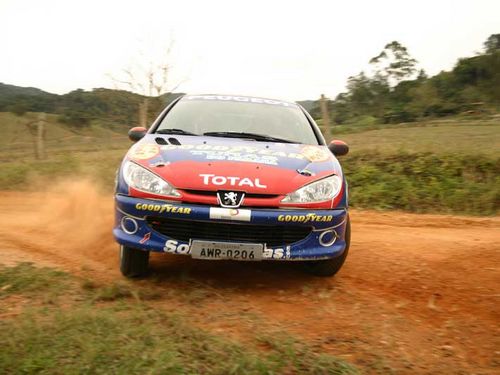
[[[353,207],[495,215],[500,159],[462,154],[368,153],[343,160]]]

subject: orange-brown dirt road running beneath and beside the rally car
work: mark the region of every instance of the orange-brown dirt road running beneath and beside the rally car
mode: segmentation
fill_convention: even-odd
[[[112,196],[89,181],[49,190],[0,193],[0,263],[121,280]],[[242,340],[279,328],[367,372],[500,373],[500,218],[351,217],[351,253],[335,278],[159,255],[137,283],[160,294],[158,308],[186,305],[195,324]]]

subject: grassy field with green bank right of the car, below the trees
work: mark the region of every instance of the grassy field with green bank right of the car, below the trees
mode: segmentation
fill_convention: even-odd
[[[499,213],[500,119],[369,127],[338,138],[351,147],[342,165],[353,207]]]

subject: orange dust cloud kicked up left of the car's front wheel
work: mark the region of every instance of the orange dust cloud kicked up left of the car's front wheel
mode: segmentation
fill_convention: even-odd
[[[65,268],[117,268],[113,196],[90,178],[47,182],[44,191],[1,192],[0,239],[27,260],[62,260]],[[34,258],[34,259],[33,259]]]

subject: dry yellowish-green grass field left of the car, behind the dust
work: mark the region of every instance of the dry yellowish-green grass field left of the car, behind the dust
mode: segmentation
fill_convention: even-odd
[[[26,126],[36,119],[36,113],[15,116],[0,112],[4,134],[0,138],[0,189],[26,189],[43,178],[69,175],[97,177],[112,188],[115,171],[131,144],[126,131],[118,133],[99,124],[76,129],[59,123],[55,115],[47,115],[47,157],[36,160],[34,136]]]

